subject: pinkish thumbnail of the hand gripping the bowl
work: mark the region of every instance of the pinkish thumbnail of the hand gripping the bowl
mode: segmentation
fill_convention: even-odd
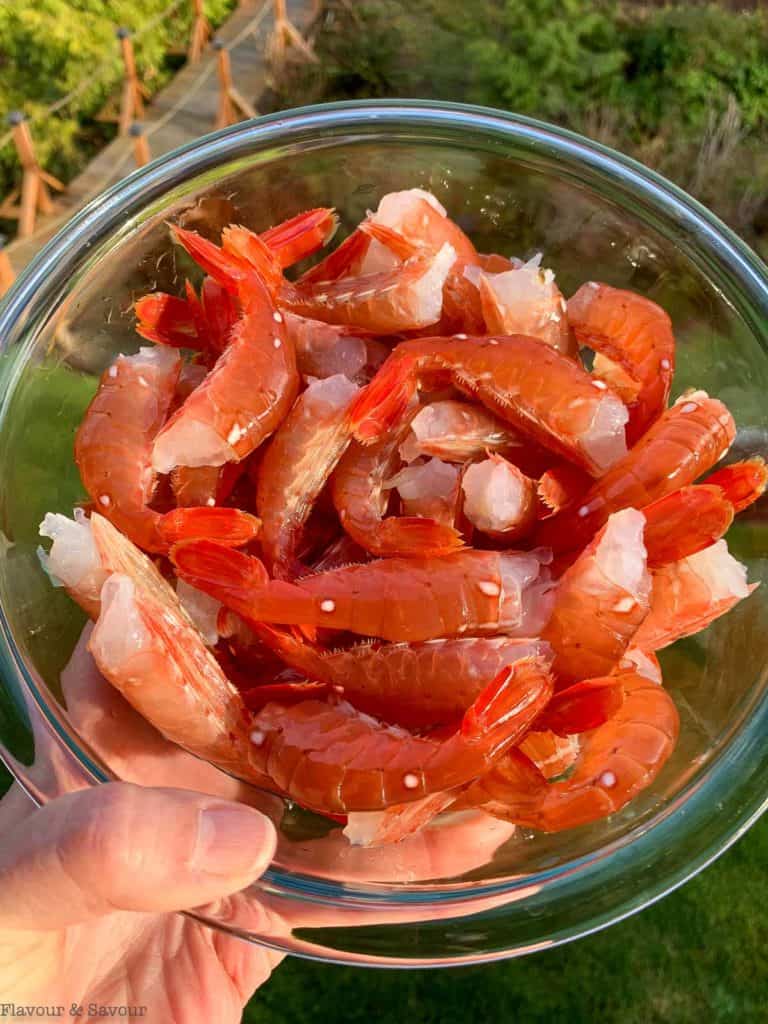
[[[261,872],[274,847],[271,821],[243,804],[209,804],[198,815],[191,863],[207,874]]]

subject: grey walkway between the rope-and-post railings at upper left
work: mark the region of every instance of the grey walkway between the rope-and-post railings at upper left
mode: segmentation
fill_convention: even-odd
[[[309,0],[288,0],[287,6],[297,28],[306,28],[311,20]],[[250,102],[261,95],[267,84],[265,58],[272,25],[271,0],[242,0],[216,32],[217,39],[229,49],[232,82]],[[212,131],[218,97],[216,54],[209,46],[200,61],[185,65],[147,105],[143,125],[152,156],[159,157]],[[6,246],[14,271],[18,273],[73,214],[129,174],[134,166],[133,139],[119,137],[101,150],[57,199],[55,213],[40,218],[31,238]]]

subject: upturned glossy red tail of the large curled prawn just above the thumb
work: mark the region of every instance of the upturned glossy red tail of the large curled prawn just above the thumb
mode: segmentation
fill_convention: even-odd
[[[494,756],[516,743],[549,703],[550,665],[549,657],[531,656],[502,669],[465,712],[464,739],[482,743]]]

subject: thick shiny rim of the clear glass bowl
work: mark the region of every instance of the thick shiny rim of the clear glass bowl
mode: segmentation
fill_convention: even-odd
[[[724,223],[682,189],[645,168],[636,161],[606,146],[590,141],[573,132],[545,124],[530,118],[469,104],[424,101],[419,99],[360,100],[298,108],[252,121],[242,122],[231,128],[211,133],[181,146],[135,171],[92,200],[76,214],[45,248],[35,257],[0,303],[0,349],[20,336],[30,323],[34,324],[41,310],[50,310],[66,291],[68,279],[75,267],[87,265],[89,251],[97,251],[101,241],[115,237],[117,241],[130,230],[133,213],[162,201],[168,194],[189,177],[198,177],[207,170],[222,164],[231,164],[239,157],[269,146],[301,144],[303,140],[316,140],[324,132],[344,130],[342,143],[358,140],[364,135],[406,132],[401,137],[419,141],[418,131],[435,133],[445,129],[445,142],[456,144],[457,132],[471,131],[498,140],[522,143],[530,153],[553,157],[563,162],[571,172],[582,168],[599,176],[602,184],[615,195],[628,197],[644,208],[647,215],[657,214],[667,221],[674,220],[681,234],[681,248],[695,257],[699,266],[706,266],[718,280],[723,293],[737,306],[738,311],[768,354],[768,268],[740,239]],[[355,135],[355,131],[359,135]],[[453,135],[451,133],[454,133]],[[335,136],[334,136],[335,137]],[[32,313],[32,315],[31,315]],[[26,322],[26,323],[25,323]],[[0,393],[0,423],[4,417],[7,398],[13,390],[16,373],[24,367],[34,332],[24,344],[14,370],[3,381],[5,393]],[[12,673],[11,685],[20,679],[23,687],[31,694],[47,727],[75,757],[84,773],[94,782],[108,781],[105,774],[86,750],[77,743],[60,716],[49,707],[45,694],[28,672],[17,649],[9,623],[0,608],[0,674]],[[288,898],[309,900],[329,906],[356,905],[390,906],[440,904],[443,910],[452,905],[466,906],[467,902],[513,894],[522,888],[541,885],[551,897],[554,888],[561,890],[561,898],[568,893],[597,894],[614,882],[626,887],[628,871],[633,865],[644,865],[641,876],[644,885],[624,892],[611,905],[603,906],[577,925],[569,925],[535,945],[524,948],[477,950],[467,955],[413,958],[389,957],[389,966],[416,964],[420,967],[444,964],[482,963],[502,956],[522,954],[537,948],[551,947],[581,936],[591,934],[637,912],[673,891],[715,860],[727,850],[757,820],[768,807],[768,752],[761,750],[760,733],[768,726],[768,694],[763,693],[754,703],[745,724],[734,733],[720,754],[697,774],[667,807],[650,821],[630,830],[614,843],[594,853],[569,861],[561,867],[528,874],[519,880],[498,883],[454,885],[436,887],[415,886],[410,890],[394,889],[386,885],[366,885],[350,891],[338,883],[319,882],[291,876],[280,869],[270,869],[263,879],[263,887],[272,894]],[[17,772],[16,772],[17,773]],[[24,784],[24,778],[19,781]],[[690,840],[696,826],[711,824],[710,809],[720,795],[718,827],[700,842],[681,863],[674,863],[669,856],[675,847]],[[727,811],[726,808],[727,807]],[[703,839],[703,837],[702,837]],[[659,857],[659,851],[666,856]],[[655,871],[648,871],[652,863]],[[573,887],[578,886],[578,890]],[[514,903],[511,904],[514,907]],[[466,912],[466,911],[465,911]],[[499,911],[490,911],[498,913]],[[458,912],[458,916],[461,916]],[[477,922],[483,913],[473,916]],[[222,927],[215,919],[205,915],[214,927]],[[237,930],[236,930],[237,931]],[[303,955],[312,955],[308,948],[293,943],[271,942],[261,937],[267,945],[284,948]],[[360,961],[345,955],[322,955],[323,959],[340,963]],[[376,963],[378,957],[368,957]]]

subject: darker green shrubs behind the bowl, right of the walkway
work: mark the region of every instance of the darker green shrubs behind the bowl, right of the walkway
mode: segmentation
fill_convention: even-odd
[[[582,131],[768,249],[768,14],[618,0],[330,0],[274,104],[433,96]]]

